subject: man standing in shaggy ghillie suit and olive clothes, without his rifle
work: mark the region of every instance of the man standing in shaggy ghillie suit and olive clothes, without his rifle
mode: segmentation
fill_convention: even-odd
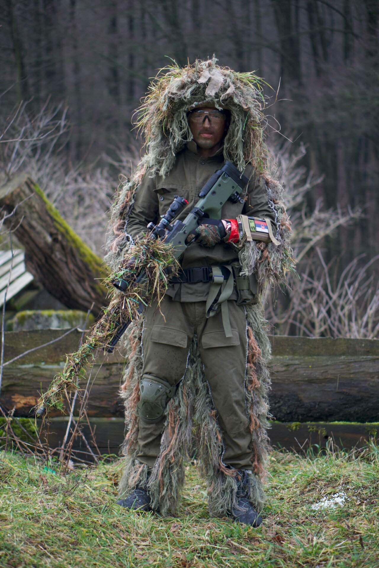
[[[184,219],[225,160],[249,183],[237,203],[224,204],[222,221],[199,225],[160,305],[145,308],[127,330],[118,504],[173,513],[195,432],[211,514],[256,527],[269,447],[270,345],[261,300],[291,266],[290,227],[282,187],[269,173],[259,78],[215,58],[165,71],[140,108],[147,152],[113,207],[109,264],[119,266],[175,194],[188,201]],[[248,240],[239,215],[265,218],[268,241]],[[220,290],[212,274],[226,269],[234,285],[210,313],[207,300]]]

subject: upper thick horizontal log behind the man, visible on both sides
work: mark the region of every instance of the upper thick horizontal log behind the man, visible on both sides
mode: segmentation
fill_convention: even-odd
[[[63,333],[56,329],[6,332],[5,361]],[[15,408],[15,416],[28,416],[38,393],[47,390],[53,376],[62,370],[64,354],[77,349],[80,337],[81,333],[74,331],[55,344],[5,364],[0,403],[9,410]],[[274,336],[271,342],[269,399],[276,420],[379,421],[378,340]],[[108,357],[97,354],[89,416],[123,416],[118,391],[124,365],[118,352]],[[85,383],[83,380],[83,387]]]

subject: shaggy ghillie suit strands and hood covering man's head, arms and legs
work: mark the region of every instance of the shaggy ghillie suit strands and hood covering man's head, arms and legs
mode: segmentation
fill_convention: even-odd
[[[279,244],[252,241],[238,247],[241,274],[255,272],[260,295],[266,286],[285,279],[291,267],[289,222],[281,199],[282,187],[269,173],[268,152],[264,144],[266,120],[262,81],[253,73],[236,73],[216,64],[216,59],[195,61],[180,68],[176,64],[160,73],[149,87],[138,111],[137,126],[143,132],[146,153],[131,178],[120,188],[111,211],[112,235],[108,243],[107,262],[116,270],[130,246],[127,221],[134,195],[141,179],[149,175],[166,177],[176,154],[192,139],[186,113],[196,106],[215,106],[230,112],[230,126],[224,139],[224,159],[234,162],[243,171],[253,167],[263,179],[270,206],[276,215],[276,238]],[[266,361],[270,344],[265,333],[261,304],[247,306],[248,357],[245,377],[245,402],[249,410],[253,450],[251,501],[261,507],[264,502],[262,483],[268,452],[269,374]],[[135,321],[127,331],[128,366],[123,377],[122,396],[126,406],[127,436],[123,446],[126,468],[120,482],[120,494],[126,494],[147,475],[147,466],[136,461],[138,451],[139,379],[141,376],[141,321]],[[211,395],[207,391],[196,340],[177,395],[166,408],[166,427],[161,453],[149,477],[153,506],[164,515],[174,511],[184,482],[183,463],[191,448],[192,421],[197,423],[199,465],[209,487],[210,510],[226,515],[236,498],[235,471],[222,462],[222,432],[216,420]]]

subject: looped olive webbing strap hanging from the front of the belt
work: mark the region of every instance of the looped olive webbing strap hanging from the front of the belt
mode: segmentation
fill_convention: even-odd
[[[206,317],[211,318],[216,314],[218,307],[221,306],[222,324],[224,326],[224,332],[226,337],[232,337],[232,329],[230,326],[229,310],[228,310],[228,299],[233,292],[234,278],[233,269],[230,265],[224,265],[229,271],[229,276],[227,281],[225,281],[222,270],[219,266],[212,266],[213,273],[213,283],[211,284],[207,303],[205,306]],[[216,300],[217,296],[219,298]]]

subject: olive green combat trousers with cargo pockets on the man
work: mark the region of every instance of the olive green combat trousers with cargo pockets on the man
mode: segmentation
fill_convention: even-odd
[[[244,307],[228,300],[232,337],[226,337],[221,312],[206,318],[205,306],[206,302],[177,302],[165,296],[160,310],[156,306],[147,309],[142,335],[142,378],[177,385],[184,377],[190,344],[197,335],[205,377],[223,431],[222,462],[235,469],[251,469],[252,438],[245,403]],[[149,467],[153,467],[160,453],[164,418],[151,423],[139,417],[136,457]]]

